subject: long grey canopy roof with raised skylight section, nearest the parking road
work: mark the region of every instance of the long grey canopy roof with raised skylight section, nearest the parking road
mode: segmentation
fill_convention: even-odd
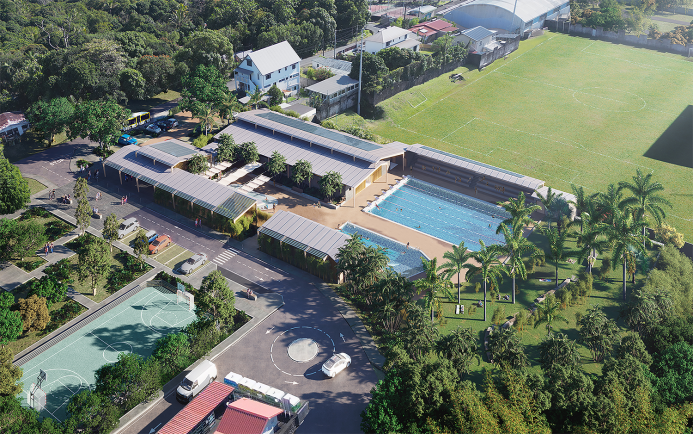
[[[232,220],[255,204],[255,199],[218,182],[182,169],[155,164],[142,154],[142,149],[135,145],[124,146],[108,157],[105,164]]]

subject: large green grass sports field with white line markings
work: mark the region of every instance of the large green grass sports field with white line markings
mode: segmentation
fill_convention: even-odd
[[[693,239],[693,62],[549,33],[482,72],[449,74],[380,106],[376,134],[588,193],[653,172]]]

